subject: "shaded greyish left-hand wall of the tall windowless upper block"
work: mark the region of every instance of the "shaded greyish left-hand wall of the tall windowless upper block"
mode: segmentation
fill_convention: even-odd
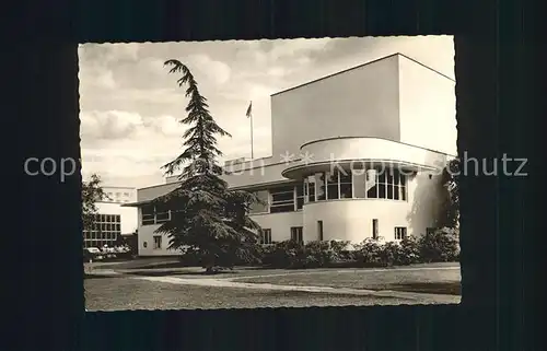
[[[271,96],[272,155],[337,136],[399,139],[397,55]]]

